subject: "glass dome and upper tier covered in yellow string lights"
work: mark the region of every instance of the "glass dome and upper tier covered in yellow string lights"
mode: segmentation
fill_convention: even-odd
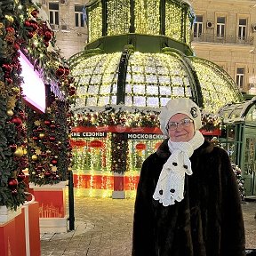
[[[187,97],[207,112],[243,100],[228,73],[194,56],[194,14],[178,0],[106,0],[86,5],[89,44],[70,58],[76,108],[159,108]]]

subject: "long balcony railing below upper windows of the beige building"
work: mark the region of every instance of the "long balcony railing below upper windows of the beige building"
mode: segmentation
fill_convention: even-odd
[[[246,44],[253,45],[253,37],[240,37],[240,36],[217,36],[216,34],[201,34],[198,37],[192,37],[192,42],[208,42],[208,43],[220,43],[220,44]]]

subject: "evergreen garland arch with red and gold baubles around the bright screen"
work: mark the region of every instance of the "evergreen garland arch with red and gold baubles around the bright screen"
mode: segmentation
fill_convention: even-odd
[[[69,105],[76,88],[42,12],[31,0],[0,2],[0,206],[14,210],[26,200],[25,171],[36,184],[56,183],[68,179],[71,159]],[[50,86],[45,115],[36,116],[22,100],[20,51]]]

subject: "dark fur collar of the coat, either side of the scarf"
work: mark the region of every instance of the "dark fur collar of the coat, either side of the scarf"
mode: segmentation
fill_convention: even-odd
[[[169,151],[168,148],[168,140],[166,139],[163,141],[163,143],[159,146],[159,148],[157,148],[156,150],[156,154],[157,156],[161,157],[161,158],[168,158],[171,153]],[[200,146],[199,148],[197,148],[195,150],[196,154],[208,154],[211,153],[213,150],[214,146],[212,145],[212,143],[208,140],[204,140],[204,144],[202,146]]]

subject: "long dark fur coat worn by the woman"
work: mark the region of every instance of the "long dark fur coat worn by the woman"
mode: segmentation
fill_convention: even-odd
[[[227,152],[207,140],[190,157],[184,199],[167,207],[153,199],[164,140],[142,164],[134,206],[132,256],[244,256],[244,220]]]

